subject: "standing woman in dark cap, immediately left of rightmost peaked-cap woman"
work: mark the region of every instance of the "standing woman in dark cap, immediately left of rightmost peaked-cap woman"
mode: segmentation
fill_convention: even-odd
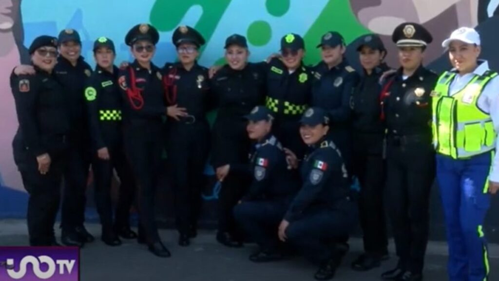
[[[386,49],[380,37],[364,35],[357,47],[364,75],[355,87],[352,108],[353,173],[359,179],[359,218],[364,232],[364,253],[352,268],[365,271],[380,265],[388,255],[383,195],[385,185],[385,160],[383,143],[385,126],[380,120],[379,78],[390,68],[383,61]]]

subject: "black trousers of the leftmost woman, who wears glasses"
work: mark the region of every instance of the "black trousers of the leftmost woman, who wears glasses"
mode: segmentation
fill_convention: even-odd
[[[55,141],[53,144],[57,145]],[[51,163],[49,171],[38,171],[36,156],[31,155],[22,143],[14,139],[13,151],[15,163],[21,173],[24,189],[29,194],[27,207],[27,225],[29,244],[49,246],[54,236],[54,224],[59,210],[60,188],[64,163],[64,149],[60,143],[58,151],[49,152]]]

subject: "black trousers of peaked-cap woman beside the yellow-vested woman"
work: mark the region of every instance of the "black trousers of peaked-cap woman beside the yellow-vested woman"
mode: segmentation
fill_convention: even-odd
[[[388,137],[388,210],[399,266],[423,270],[429,232],[430,189],[435,178],[431,135]]]

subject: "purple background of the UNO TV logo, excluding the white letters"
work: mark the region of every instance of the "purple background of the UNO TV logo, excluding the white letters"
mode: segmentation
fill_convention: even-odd
[[[26,273],[20,279],[14,279],[9,276],[7,270],[12,269],[16,272],[19,271],[21,260],[25,256],[32,255],[38,259],[41,255],[46,255],[52,258],[55,263],[54,274],[48,279],[38,278],[33,271],[33,264],[30,262],[26,263]],[[0,280],[20,280],[20,281],[39,281],[39,280],[50,280],[50,281],[79,281],[79,248],[78,247],[3,247],[0,246]],[[13,268],[9,267],[6,263],[8,258],[12,258],[14,261]],[[58,264],[57,260],[74,260],[74,264],[71,268],[71,273],[68,273],[68,267],[66,265]],[[48,269],[47,263],[42,263],[39,261],[39,269],[41,272],[45,272]],[[64,270],[63,274],[60,274],[59,270]]]

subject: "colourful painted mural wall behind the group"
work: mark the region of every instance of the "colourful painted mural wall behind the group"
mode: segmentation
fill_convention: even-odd
[[[123,41],[126,32],[134,24],[150,22],[160,30],[155,62],[163,65],[175,57],[173,30],[187,24],[205,36],[207,44],[199,61],[209,66],[223,62],[225,38],[232,33],[248,37],[253,61],[276,52],[283,34],[300,33],[306,41],[306,63],[316,63],[320,57],[315,45],[320,36],[336,30],[349,43],[347,57],[358,68],[355,38],[370,32],[381,34],[388,48],[387,61],[395,66],[391,32],[403,21],[414,21],[424,24],[434,36],[426,62],[435,70],[448,67],[440,43],[459,26],[478,28],[483,56],[499,69],[494,32],[499,27],[499,16],[494,16],[498,5],[499,0],[0,0],[0,216],[24,214],[26,195],[11,151],[17,124],[8,77],[15,65],[29,61],[26,46],[40,34],[78,30],[83,55],[93,65],[95,38],[112,38],[117,44],[117,61],[129,60]],[[432,200],[436,204],[432,213],[441,224],[438,194]],[[491,224],[497,226],[498,221],[496,218]]]

